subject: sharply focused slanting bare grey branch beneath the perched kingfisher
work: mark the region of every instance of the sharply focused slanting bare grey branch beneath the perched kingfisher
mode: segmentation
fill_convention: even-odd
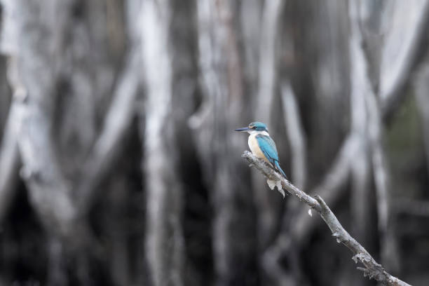
[[[348,249],[353,252],[354,256],[352,257],[353,261],[357,263],[358,261],[364,266],[363,268],[358,267],[359,270],[364,272],[364,276],[368,276],[370,279],[377,280],[383,285],[392,285],[392,286],[405,286],[409,285],[398,278],[390,275],[381,264],[378,264],[371,254],[365,250],[360,243],[358,243],[354,238],[348,234],[348,232],[341,226],[338,219],[335,217],[334,213],[329,209],[320,196],[315,196],[315,198],[308,196],[307,193],[301,191],[296,186],[291,184],[287,179],[283,178],[275,172],[268,164],[259,158],[255,157],[249,151],[245,151],[242,155],[250,164],[261,171],[261,173],[271,180],[276,182],[281,182],[282,189],[290,193],[291,195],[296,196],[301,202],[306,203],[312,209],[317,210],[320,214],[320,217],[325,221],[329,229],[332,231],[332,236],[336,238],[337,243],[343,243]]]

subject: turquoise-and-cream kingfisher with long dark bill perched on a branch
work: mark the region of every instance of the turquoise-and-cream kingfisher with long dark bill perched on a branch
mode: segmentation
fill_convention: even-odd
[[[266,129],[264,123],[252,122],[249,126],[238,128],[236,131],[248,132],[250,135],[247,144],[249,144],[252,154],[270,163],[275,170],[278,170],[283,177],[287,178],[285,172],[280,168],[277,147],[275,147],[275,143],[268,134],[268,129]]]

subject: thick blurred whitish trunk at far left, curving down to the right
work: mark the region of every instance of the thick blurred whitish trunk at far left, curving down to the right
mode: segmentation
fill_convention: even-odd
[[[77,231],[70,186],[62,174],[51,136],[55,84],[61,64],[58,48],[63,41],[69,4],[54,2],[42,8],[35,2],[4,3],[8,15],[5,25],[17,32],[15,39],[7,39],[11,46],[4,48],[11,55],[8,73],[14,90],[12,108],[17,109],[15,130],[23,163],[21,175],[30,201],[50,235],[50,261],[57,265],[48,274],[48,282],[53,285],[67,284],[64,262],[60,262],[64,257],[63,243],[67,238],[71,242],[72,231]],[[24,32],[27,25],[36,28]],[[53,31],[53,27],[59,29]],[[75,240],[74,245],[80,245],[82,240]]]

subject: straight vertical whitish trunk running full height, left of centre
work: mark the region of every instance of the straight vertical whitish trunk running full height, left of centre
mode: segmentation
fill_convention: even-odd
[[[182,186],[172,106],[169,1],[142,2],[142,52],[147,100],[142,139],[147,190],[147,263],[153,285],[183,285]],[[151,72],[151,71],[155,71]]]

